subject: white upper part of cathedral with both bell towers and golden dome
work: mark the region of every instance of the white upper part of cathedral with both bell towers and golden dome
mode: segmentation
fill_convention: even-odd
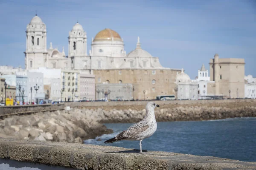
[[[87,54],[87,35],[83,27],[76,23],[68,37],[68,56],[52,48],[47,49],[46,25],[40,17],[32,18],[26,29],[26,69],[40,67],[75,69],[83,73],[93,74],[93,70],[102,69],[170,69],[164,68],[158,57],[152,57],[141,49],[140,38],[137,48],[126,55],[124,41],[120,35],[109,28],[99,31],[92,38],[91,50]],[[179,69],[176,69],[179,70]],[[179,70],[180,71],[180,70]]]

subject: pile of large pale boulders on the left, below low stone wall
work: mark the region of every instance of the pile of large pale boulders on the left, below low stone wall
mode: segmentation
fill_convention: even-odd
[[[82,143],[102,134],[113,133],[86,111],[54,111],[12,116],[0,121],[0,137]]]

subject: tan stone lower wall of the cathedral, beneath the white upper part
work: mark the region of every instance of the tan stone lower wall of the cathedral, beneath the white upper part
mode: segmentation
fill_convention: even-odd
[[[180,72],[180,71],[179,71]],[[120,69],[94,70],[96,84],[131,83],[134,99],[155,99],[157,95],[175,94],[176,70]]]

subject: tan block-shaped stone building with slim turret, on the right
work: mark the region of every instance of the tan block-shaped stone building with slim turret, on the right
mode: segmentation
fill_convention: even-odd
[[[210,81],[207,94],[215,97],[244,98],[244,59],[219,58],[218,54],[210,59]]]

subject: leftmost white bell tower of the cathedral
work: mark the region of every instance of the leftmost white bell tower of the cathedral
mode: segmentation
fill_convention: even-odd
[[[26,69],[45,67],[47,57],[46,26],[40,17],[35,15],[26,28]]]

